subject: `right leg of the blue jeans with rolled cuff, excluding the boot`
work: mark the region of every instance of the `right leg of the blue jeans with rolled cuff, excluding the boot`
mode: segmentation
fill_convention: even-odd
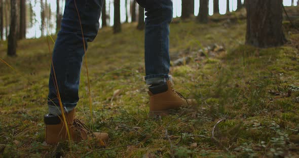
[[[148,85],[168,80],[169,23],[172,20],[171,0],[137,0],[145,8],[145,81]]]

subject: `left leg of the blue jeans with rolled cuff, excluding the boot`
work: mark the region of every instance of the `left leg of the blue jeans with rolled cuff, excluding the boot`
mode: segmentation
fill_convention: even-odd
[[[102,5],[103,0],[66,1],[61,30],[52,57],[48,95],[51,114],[60,114],[57,87],[66,112],[72,110],[79,101],[78,89],[85,54],[84,43],[87,49],[87,42],[93,41],[97,35]],[[82,23],[84,43],[79,19]]]

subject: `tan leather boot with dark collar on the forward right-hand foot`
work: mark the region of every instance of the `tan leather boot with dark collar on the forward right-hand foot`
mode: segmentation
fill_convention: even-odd
[[[180,93],[173,89],[171,81],[165,84],[150,86],[149,94],[149,116],[167,115],[176,112],[180,107],[190,105]]]

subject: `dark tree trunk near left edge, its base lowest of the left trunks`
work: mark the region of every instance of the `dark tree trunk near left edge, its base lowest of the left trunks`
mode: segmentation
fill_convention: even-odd
[[[11,21],[8,36],[7,55],[17,55],[17,0],[11,0]]]

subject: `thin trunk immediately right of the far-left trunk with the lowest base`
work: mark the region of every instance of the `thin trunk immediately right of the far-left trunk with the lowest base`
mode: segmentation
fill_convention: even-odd
[[[20,28],[19,28],[19,39],[26,37],[26,2],[20,0]]]

